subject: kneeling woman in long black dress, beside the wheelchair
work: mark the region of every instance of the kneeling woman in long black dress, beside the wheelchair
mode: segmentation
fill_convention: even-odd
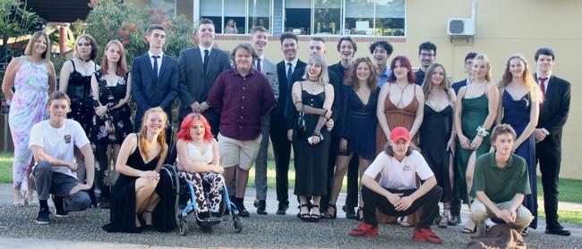
[[[167,114],[160,107],[145,112],[139,133],[127,136],[119,150],[116,171],[119,178],[111,194],[107,232],[139,233],[153,226],[152,214],[158,205],[159,170],[166,160]]]

